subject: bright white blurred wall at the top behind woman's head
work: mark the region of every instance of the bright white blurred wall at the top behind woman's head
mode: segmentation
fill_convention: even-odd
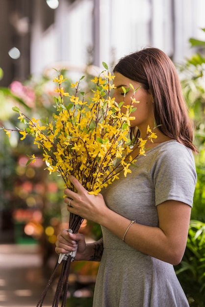
[[[54,62],[84,66],[93,47],[94,64],[115,63],[145,46],[180,62],[190,55],[188,39],[205,40],[205,0],[60,0],[55,22],[42,31],[41,0],[35,1],[31,73]],[[204,36],[203,36],[204,35]]]

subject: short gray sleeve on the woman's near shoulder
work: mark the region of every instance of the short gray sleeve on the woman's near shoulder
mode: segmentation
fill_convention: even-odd
[[[175,200],[192,206],[197,179],[193,153],[178,142],[170,145],[162,147],[155,160],[155,205]]]

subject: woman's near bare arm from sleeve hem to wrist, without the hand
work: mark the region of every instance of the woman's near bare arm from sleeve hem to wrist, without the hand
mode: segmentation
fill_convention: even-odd
[[[167,201],[157,206],[159,227],[132,224],[125,242],[138,251],[157,259],[179,264],[184,254],[191,207],[177,201]],[[123,238],[130,225],[126,218],[111,211],[102,216],[101,225]]]

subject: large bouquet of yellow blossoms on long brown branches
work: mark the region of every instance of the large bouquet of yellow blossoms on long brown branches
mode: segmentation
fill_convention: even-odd
[[[19,119],[26,125],[26,128],[18,129],[21,140],[24,140],[26,135],[34,138],[34,144],[43,150],[46,169],[50,173],[57,172],[64,180],[65,187],[75,190],[68,179],[69,175],[73,175],[90,194],[95,195],[103,187],[106,188],[108,184],[118,179],[120,172],[124,172],[124,176],[131,173],[129,167],[136,162],[136,158],[130,155],[135,140],[129,139],[130,121],[134,119],[131,113],[136,109],[134,95],[131,97],[130,105],[123,106],[123,101],[115,102],[111,97],[114,76],[108,71],[106,63],[103,63],[103,66],[105,70],[102,74],[92,80],[95,83],[95,90],[92,90],[92,98],[88,100],[86,94],[79,89],[83,77],[75,84],[71,84],[75,88],[75,94],[71,95],[64,92],[62,83],[66,79],[56,71],[58,75],[53,81],[58,84],[55,90],[57,97],[54,97],[55,113],[51,121],[48,118],[30,119],[18,107],[13,108],[20,113]],[[131,84],[130,87],[135,93],[136,90]],[[123,88],[123,91],[126,95],[128,89]],[[11,130],[3,129],[10,135]],[[156,137],[149,127],[147,137],[151,140]],[[136,141],[140,154],[145,154],[146,140]],[[32,155],[27,163],[34,162],[35,159],[35,155]],[[71,213],[69,231],[77,233],[82,221],[80,216]],[[37,307],[43,306],[54,273],[62,260],[63,266],[53,306],[58,306],[62,283],[64,295],[61,306],[66,306],[67,280],[70,262],[74,257],[72,253],[59,256]]]

